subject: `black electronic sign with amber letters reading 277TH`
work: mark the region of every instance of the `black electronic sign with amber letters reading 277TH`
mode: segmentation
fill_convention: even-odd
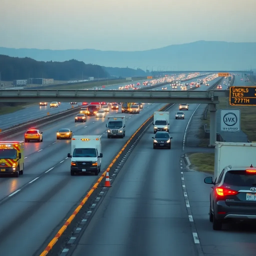
[[[229,104],[233,106],[256,106],[256,87],[231,86]]]

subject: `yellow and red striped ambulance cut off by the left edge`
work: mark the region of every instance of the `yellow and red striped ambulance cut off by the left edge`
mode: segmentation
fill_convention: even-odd
[[[0,174],[19,177],[24,170],[24,141],[0,141]]]

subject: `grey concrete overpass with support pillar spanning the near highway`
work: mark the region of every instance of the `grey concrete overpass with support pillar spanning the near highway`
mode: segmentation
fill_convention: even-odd
[[[0,90],[0,102],[146,102],[208,104],[210,145],[216,141],[216,104],[229,90],[209,91],[101,91],[101,90]]]

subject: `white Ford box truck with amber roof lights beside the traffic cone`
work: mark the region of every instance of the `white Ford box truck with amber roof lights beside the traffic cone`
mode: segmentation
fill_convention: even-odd
[[[72,155],[71,155],[72,154]],[[74,135],[71,139],[70,174],[90,172],[96,176],[101,167],[101,135]]]

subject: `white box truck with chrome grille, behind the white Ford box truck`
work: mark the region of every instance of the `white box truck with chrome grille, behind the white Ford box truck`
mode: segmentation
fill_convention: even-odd
[[[125,116],[108,116],[106,123],[108,138],[125,136]]]

